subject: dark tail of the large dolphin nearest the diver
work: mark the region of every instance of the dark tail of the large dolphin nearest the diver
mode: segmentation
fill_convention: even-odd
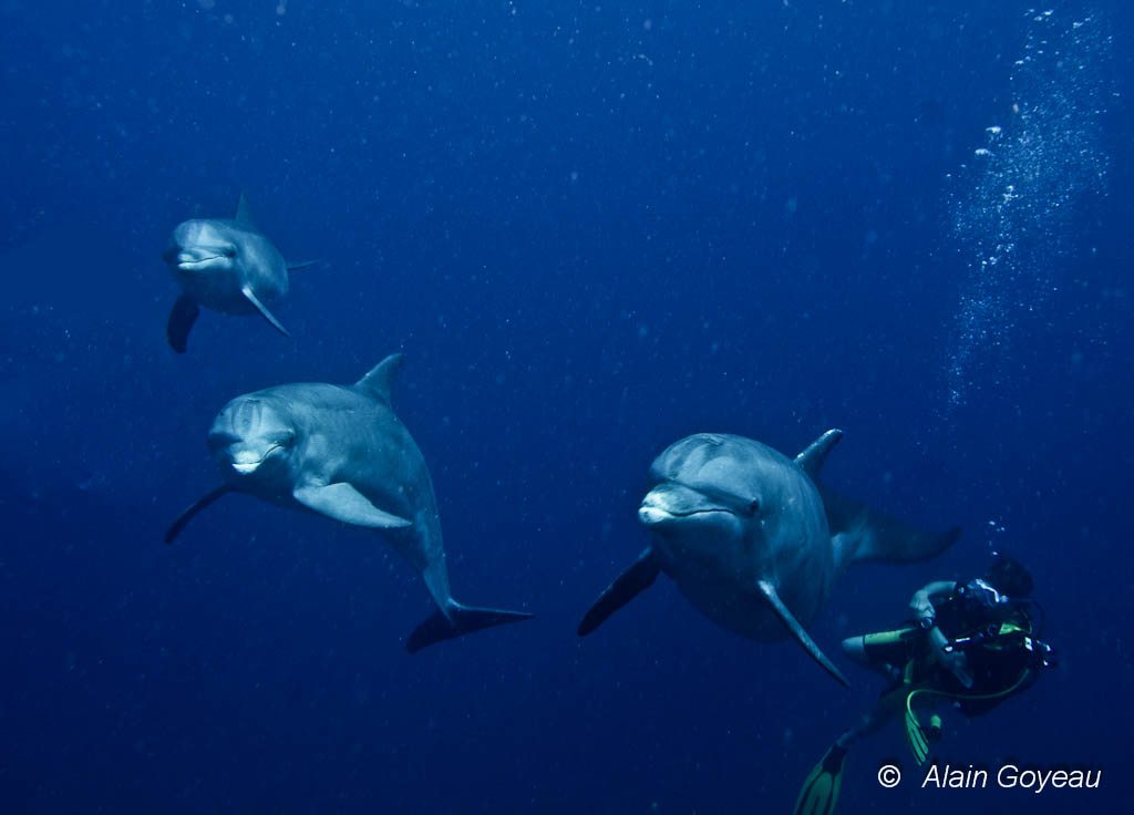
[[[960,537],[960,528],[945,533],[925,532],[891,518],[860,501],[819,485],[827,525],[835,540],[836,564],[914,563],[930,560]]]

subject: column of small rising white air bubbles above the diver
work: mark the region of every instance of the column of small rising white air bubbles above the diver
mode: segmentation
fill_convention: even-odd
[[[1060,258],[1077,248],[1074,213],[1106,194],[1110,159],[1099,129],[1112,96],[1111,37],[1097,16],[1031,10],[1027,26],[1010,76],[1010,118],[985,128],[958,173],[966,192],[950,207],[967,269],[946,364],[950,409],[975,387],[974,367],[997,373],[1018,315],[1057,296]]]

